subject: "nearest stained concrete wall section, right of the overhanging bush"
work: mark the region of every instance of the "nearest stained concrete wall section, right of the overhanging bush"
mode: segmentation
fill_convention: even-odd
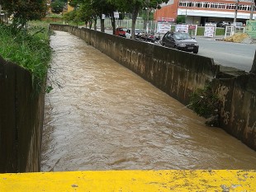
[[[256,150],[256,76],[214,79],[220,98],[220,127]]]

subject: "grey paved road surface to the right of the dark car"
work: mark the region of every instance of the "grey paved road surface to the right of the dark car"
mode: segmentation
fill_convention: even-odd
[[[239,44],[197,37],[199,55],[211,57],[220,65],[249,72],[252,68],[256,44]]]

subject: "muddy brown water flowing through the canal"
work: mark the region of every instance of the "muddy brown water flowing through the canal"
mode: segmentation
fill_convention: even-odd
[[[206,127],[97,49],[55,31],[41,171],[256,169],[256,152]]]

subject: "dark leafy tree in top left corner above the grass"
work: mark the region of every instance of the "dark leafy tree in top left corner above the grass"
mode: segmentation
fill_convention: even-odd
[[[46,0],[0,0],[2,9],[13,14],[13,28],[21,29],[27,21],[39,20],[45,16]]]

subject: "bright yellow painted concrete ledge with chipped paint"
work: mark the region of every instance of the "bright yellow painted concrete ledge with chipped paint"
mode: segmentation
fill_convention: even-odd
[[[256,191],[256,171],[70,171],[0,174],[0,191]]]

